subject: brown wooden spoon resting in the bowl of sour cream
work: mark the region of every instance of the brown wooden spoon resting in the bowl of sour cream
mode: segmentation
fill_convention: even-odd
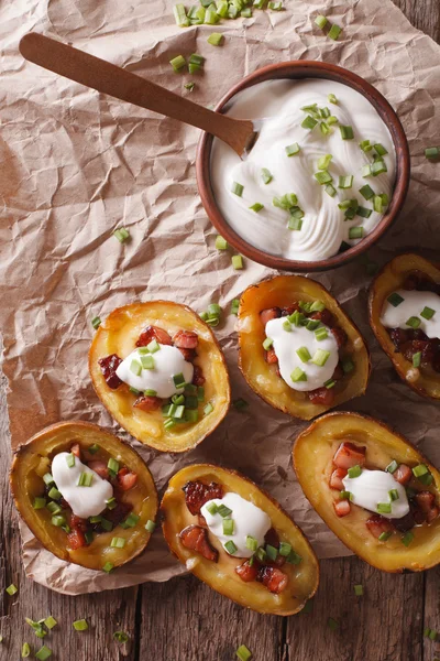
[[[255,142],[257,133],[252,121],[208,110],[106,59],[43,34],[25,34],[20,41],[20,53],[25,59],[70,80],[212,133],[241,158]]]

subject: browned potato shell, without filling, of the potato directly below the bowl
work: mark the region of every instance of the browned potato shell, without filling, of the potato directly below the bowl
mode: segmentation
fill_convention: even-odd
[[[264,327],[260,312],[266,307],[284,307],[295,301],[320,300],[348,335],[348,353],[353,355],[355,370],[345,375],[332,407],[312,403],[307,393],[293,390],[276,376],[264,359]],[[311,420],[333,407],[363,394],[369,383],[371,365],[365,340],[338,301],[321,284],[301,275],[276,275],[248,288],[239,308],[239,367],[249,386],[274,409],[301,420]]]

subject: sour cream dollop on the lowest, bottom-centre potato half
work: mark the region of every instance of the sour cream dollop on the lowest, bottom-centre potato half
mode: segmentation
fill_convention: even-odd
[[[210,502],[215,502],[217,506],[226,505],[232,510],[232,513],[229,514],[229,518],[233,519],[234,522],[232,535],[223,534],[223,518],[219,513],[211,514],[209,512],[207,506]],[[266,512],[232,491],[228,491],[221,499],[213,498],[209,500],[201,507],[200,511],[205,517],[210,532],[220,540],[223,549],[227,542],[230,540],[233,541],[237,551],[232,554],[230,553],[230,555],[234,555],[235,557],[251,557],[254,552],[246,548],[246,537],[254,538],[258,546],[263,546],[264,535],[272,525],[271,518]],[[227,549],[224,550],[229,553]]]

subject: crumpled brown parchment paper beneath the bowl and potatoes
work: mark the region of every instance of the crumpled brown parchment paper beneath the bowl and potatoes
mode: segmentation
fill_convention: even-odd
[[[408,136],[413,177],[405,210],[371,253],[381,264],[403,249],[438,257],[438,165],[424,149],[439,144],[440,48],[415,30],[389,0],[295,2],[286,11],[255,11],[222,22],[224,45],[207,43],[212,28],[179,29],[170,0],[14,0],[4,9],[0,163],[3,214],[0,282],[4,372],[9,379],[12,446],[58,420],[82,419],[127,436],[103,411],[90,384],[90,319],[133,300],[164,297],[197,311],[209,302],[229,310],[249,284],[273,273],[250,260],[233,271],[230,253],[215,249],[216,231],[197,194],[199,132],[24,63],[19,39],[30,30],[73,43],[205,105],[256,68],[287,59],[339,64],[375,85],[397,110]],[[318,13],[343,26],[332,42],[315,25]],[[6,15],[4,15],[6,14]],[[168,61],[200,53],[205,72],[173,73]],[[437,134],[435,134],[437,131]],[[125,226],[121,246],[112,231]],[[367,326],[369,275],[361,262],[316,277],[365,334],[373,357],[367,394],[345,408],[375,415],[422,444],[440,464],[435,443],[438,405],[396,377]],[[242,470],[279,500],[320,557],[348,550],[306,502],[290,464],[292,442],[305,423],[274,411],[248,388],[237,367],[235,317],[217,335],[226,351],[232,410],[217,432],[185,455],[157,454],[134,443],[158,489],[186,464],[218,462]],[[58,592],[79,594],[166,581],[184,572],[161,533],[146,552],[105,575],[62,562],[22,525],[29,576]]]

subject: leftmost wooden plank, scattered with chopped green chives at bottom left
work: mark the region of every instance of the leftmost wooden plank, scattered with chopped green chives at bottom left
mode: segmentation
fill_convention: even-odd
[[[117,661],[135,658],[135,605],[139,588],[105,592],[91,596],[67,597],[25,577],[21,564],[18,516],[9,489],[10,442],[7,426],[4,388],[0,387],[0,659],[21,658],[23,642],[37,650],[44,642],[54,651],[55,659],[78,661]],[[2,397],[1,397],[2,395]],[[10,597],[6,592],[11,583],[19,593]],[[25,617],[38,620],[53,615],[59,626],[41,641]],[[86,618],[89,631],[75,631],[72,622]],[[114,630],[122,629],[131,641],[120,646],[112,639]],[[75,650],[69,654],[68,650]]]

